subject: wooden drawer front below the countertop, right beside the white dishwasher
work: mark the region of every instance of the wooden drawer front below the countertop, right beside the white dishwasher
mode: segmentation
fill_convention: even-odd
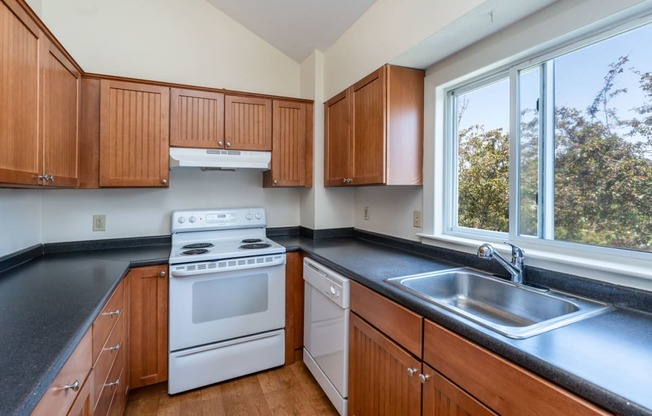
[[[421,357],[423,318],[420,315],[355,282],[351,282],[351,310]]]

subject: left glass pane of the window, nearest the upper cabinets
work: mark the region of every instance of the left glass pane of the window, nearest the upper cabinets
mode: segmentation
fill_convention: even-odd
[[[509,79],[455,96],[457,226],[509,229]]]

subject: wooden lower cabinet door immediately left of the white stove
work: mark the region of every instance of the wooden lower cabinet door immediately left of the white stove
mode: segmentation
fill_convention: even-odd
[[[138,388],[168,377],[167,266],[139,267],[129,282],[129,385]]]

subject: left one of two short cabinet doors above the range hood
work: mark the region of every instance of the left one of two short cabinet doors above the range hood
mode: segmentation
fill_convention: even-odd
[[[170,146],[224,147],[224,94],[170,90]]]

